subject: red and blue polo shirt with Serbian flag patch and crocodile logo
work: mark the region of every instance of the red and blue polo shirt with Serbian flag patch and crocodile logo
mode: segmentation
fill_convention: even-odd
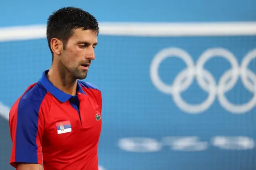
[[[10,110],[10,164],[37,163],[44,170],[98,170],[101,92],[78,80],[77,95],[53,86],[46,70]]]

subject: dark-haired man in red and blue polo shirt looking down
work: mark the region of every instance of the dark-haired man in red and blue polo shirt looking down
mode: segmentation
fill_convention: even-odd
[[[47,22],[50,70],[27,88],[9,114],[10,164],[18,170],[98,170],[101,92],[86,78],[97,44],[98,22],[67,7]]]

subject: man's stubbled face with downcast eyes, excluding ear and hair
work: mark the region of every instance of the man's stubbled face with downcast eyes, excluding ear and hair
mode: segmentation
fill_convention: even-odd
[[[93,30],[74,30],[74,34],[66,43],[60,62],[74,78],[86,78],[91,61],[94,60],[94,48],[97,45],[97,33]]]

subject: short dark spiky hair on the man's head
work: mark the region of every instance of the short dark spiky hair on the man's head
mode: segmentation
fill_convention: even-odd
[[[63,42],[64,49],[68,39],[74,34],[74,29],[94,30],[99,33],[99,26],[96,18],[89,12],[76,7],[60,8],[49,16],[47,21],[46,36],[48,46],[53,55],[50,42],[52,38],[58,38]]]

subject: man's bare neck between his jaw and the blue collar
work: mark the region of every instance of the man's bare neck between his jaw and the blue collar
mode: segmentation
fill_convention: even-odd
[[[76,95],[77,80],[66,69],[51,66],[47,77],[56,88],[72,96]]]

